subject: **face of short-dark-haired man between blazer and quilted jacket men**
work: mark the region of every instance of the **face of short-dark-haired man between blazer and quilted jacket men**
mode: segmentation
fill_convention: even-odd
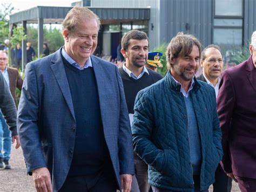
[[[147,63],[147,55],[149,54],[149,42],[147,39],[137,40],[130,39],[129,46],[126,50],[121,49],[126,61],[126,67],[142,68]]]

